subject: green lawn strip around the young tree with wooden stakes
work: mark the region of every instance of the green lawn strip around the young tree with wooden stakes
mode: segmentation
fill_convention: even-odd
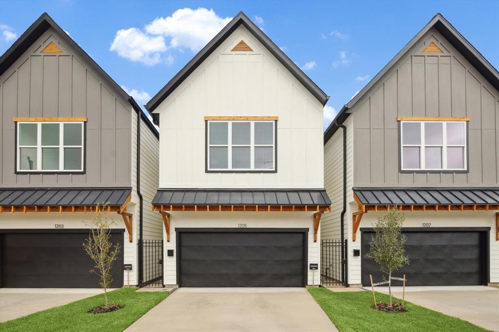
[[[405,302],[409,312],[389,314],[372,309],[371,292],[331,292],[327,288],[309,288],[339,331],[487,331],[458,318]],[[388,302],[388,295],[376,293],[376,300]],[[397,299],[399,302],[399,299]]]

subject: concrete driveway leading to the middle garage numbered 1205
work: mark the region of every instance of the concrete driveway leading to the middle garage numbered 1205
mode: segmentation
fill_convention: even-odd
[[[130,331],[338,331],[305,288],[180,288]]]

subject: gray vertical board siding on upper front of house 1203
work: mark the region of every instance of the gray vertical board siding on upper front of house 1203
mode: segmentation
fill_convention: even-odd
[[[131,186],[131,105],[48,29],[0,77],[0,186]],[[53,41],[63,53],[41,50]],[[85,174],[14,174],[13,117],[87,117]]]

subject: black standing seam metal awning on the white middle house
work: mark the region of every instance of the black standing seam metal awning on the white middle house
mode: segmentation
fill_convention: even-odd
[[[330,205],[324,189],[159,189],[153,205]]]

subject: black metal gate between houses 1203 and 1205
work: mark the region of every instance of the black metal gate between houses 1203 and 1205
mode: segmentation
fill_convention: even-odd
[[[163,240],[141,241],[142,283],[140,287],[165,287],[163,279]]]

